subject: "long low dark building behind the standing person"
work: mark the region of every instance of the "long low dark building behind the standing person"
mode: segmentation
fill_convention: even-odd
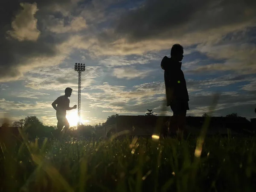
[[[110,137],[121,131],[130,136],[151,136],[159,134],[170,116],[116,116],[114,123],[104,128],[104,137]],[[186,129],[192,135],[198,135],[204,126],[205,117],[187,116]],[[208,135],[245,135],[252,134],[255,129],[252,123],[244,117],[227,118],[222,116],[213,116],[210,118],[207,129]]]

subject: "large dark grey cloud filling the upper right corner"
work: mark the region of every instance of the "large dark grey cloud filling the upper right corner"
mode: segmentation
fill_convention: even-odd
[[[255,0],[146,0],[120,17],[115,32],[130,41],[165,39],[239,25],[255,16]]]

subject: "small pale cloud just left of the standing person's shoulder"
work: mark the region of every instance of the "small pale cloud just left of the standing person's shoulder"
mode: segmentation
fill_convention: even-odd
[[[113,71],[113,76],[115,76],[118,79],[136,79],[140,78],[143,79],[147,76],[149,76],[150,73],[152,73],[153,70],[137,70],[134,67],[123,67],[123,68],[115,68]]]

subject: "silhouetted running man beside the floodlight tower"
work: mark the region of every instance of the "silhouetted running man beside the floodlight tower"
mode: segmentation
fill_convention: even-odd
[[[70,100],[68,97],[71,96],[72,89],[70,87],[67,87],[65,89],[65,95],[59,96],[54,102],[52,102],[52,107],[56,110],[56,117],[58,120],[57,123],[57,133],[58,136],[60,136],[63,126],[64,127],[64,134],[67,132],[67,129],[69,128],[69,122],[66,118],[66,111],[76,109],[76,105],[73,106],[73,108],[70,108]],[[56,106],[57,105],[57,106]]]

